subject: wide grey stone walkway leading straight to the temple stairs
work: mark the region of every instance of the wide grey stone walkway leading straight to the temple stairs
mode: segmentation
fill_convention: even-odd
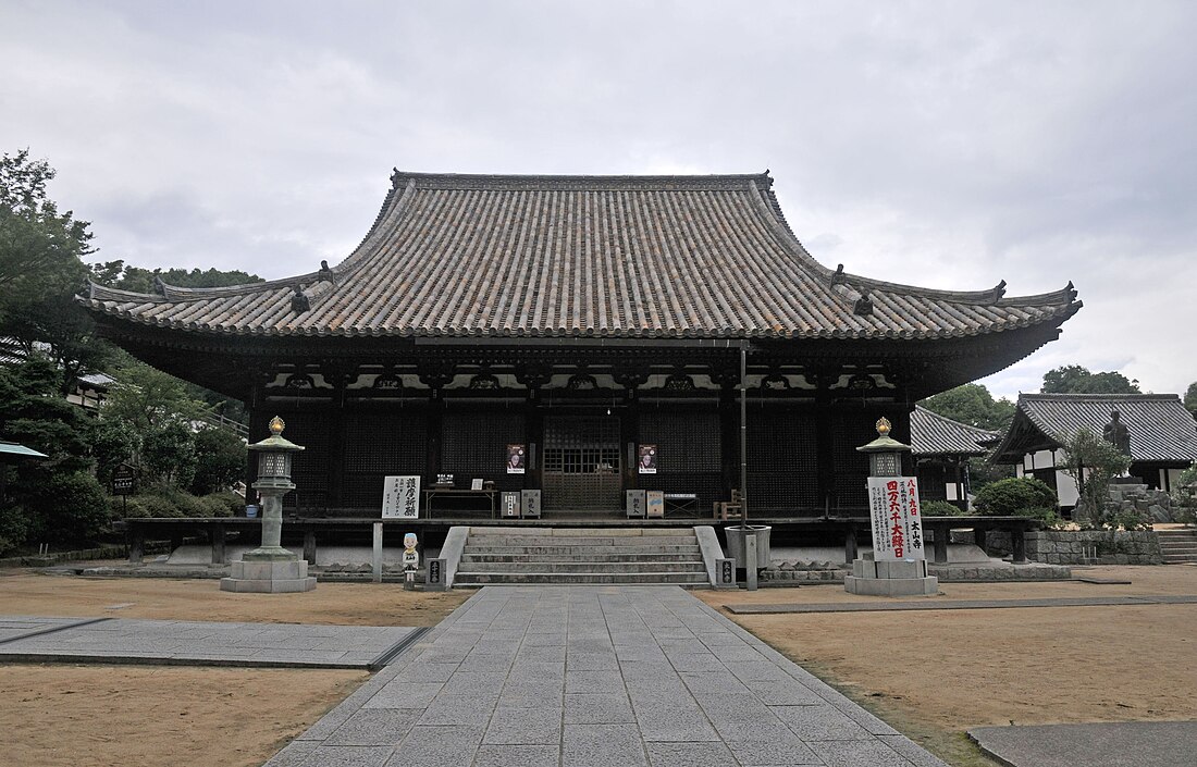
[[[676,586],[488,586],[268,767],[944,767]]]

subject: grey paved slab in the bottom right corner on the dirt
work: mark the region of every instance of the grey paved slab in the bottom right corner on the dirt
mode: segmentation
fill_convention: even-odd
[[[1009,767],[1192,767],[1197,722],[977,728],[978,747]]]

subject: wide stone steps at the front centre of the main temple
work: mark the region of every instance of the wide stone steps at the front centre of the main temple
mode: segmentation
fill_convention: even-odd
[[[470,528],[455,586],[710,585],[693,528]]]

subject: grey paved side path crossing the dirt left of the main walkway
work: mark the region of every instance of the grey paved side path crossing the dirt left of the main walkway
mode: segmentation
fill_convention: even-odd
[[[0,658],[365,669],[415,631],[402,626],[0,616]]]

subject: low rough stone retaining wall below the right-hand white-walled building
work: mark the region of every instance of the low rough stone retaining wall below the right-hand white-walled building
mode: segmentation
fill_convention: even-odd
[[[971,531],[953,532],[953,542],[972,543]],[[1008,532],[985,536],[990,556],[1010,553]],[[1160,537],[1153,530],[1040,530],[1027,532],[1027,559],[1049,565],[1162,565]]]

